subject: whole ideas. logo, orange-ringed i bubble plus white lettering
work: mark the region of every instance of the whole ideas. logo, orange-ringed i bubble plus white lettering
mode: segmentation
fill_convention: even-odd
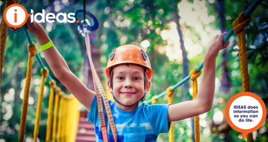
[[[72,15],[74,16],[75,14],[69,13],[67,15],[66,13],[59,13],[56,16],[56,20],[60,23],[63,23],[63,22],[74,23],[76,19],[74,17],[71,17]],[[23,26],[26,23],[27,18],[29,16],[31,16],[31,23],[33,22],[33,20],[35,20],[38,23],[45,22],[45,20],[49,23],[55,22],[55,20],[53,20],[53,19],[55,19],[54,13],[48,13],[45,16],[45,11],[42,10],[42,13],[37,13],[35,16],[33,16],[33,10],[31,9],[31,14],[28,14],[26,9],[21,4],[9,5],[5,9],[3,16],[4,16],[4,20],[5,20],[6,24],[9,25],[10,27],[13,27],[13,28],[19,28],[19,27]],[[38,20],[37,16],[41,16],[41,20]],[[63,16],[62,20],[59,19],[60,16]],[[70,18],[72,20],[69,20],[68,18]],[[79,22],[79,21],[77,21],[77,22]]]

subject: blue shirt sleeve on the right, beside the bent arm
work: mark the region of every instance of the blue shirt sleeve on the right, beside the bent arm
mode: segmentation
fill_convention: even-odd
[[[148,105],[145,107],[145,114],[147,115],[155,134],[167,133],[171,122],[168,122],[168,106],[170,104]]]

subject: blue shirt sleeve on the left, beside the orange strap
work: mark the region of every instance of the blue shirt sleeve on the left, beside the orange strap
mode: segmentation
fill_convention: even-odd
[[[87,121],[91,122],[92,124],[96,124],[96,122],[98,122],[98,105],[97,105],[97,97],[95,95],[92,104],[90,106],[90,111],[88,111],[87,114]]]

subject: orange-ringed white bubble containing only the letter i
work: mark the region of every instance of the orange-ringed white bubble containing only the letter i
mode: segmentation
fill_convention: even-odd
[[[11,4],[5,9],[3,17],[7,25],[19,28],[26,23],[30,15],[21,4]]]

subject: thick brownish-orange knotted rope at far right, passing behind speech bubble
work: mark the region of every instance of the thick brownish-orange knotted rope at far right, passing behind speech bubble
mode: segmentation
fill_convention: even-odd
[[[251,17],[244,18],[245,11],[241,12],[233,23],[233,31],[237,34],[238,38],[238,47],[239,47],[239,62],[240,62],[240,71],[242,78],[242,91],[249,92],[249,75],[247,70],[247,40],[245,36],[245,27],[250,23]],[[247,142],[254,142],[252,133],[247,134]]]

